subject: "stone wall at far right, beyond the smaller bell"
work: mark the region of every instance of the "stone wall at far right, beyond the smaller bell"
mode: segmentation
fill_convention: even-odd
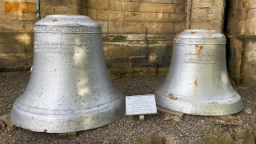
[[[256,84],[255,0],[230,0],[227,33],[230,78],[237,83]]]

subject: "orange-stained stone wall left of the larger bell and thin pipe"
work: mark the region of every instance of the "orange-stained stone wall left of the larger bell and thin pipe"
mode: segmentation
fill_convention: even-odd
[[[34,1],[0,0],[0,69],[23,70],[32,65]]]

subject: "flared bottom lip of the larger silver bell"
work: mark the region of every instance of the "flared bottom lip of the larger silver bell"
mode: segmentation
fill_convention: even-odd
[[[13,106],[10,121],[18,127],[35,132],[69,133],[106,126],[125,114],[125,98],[119,97],[112,106],[83,114],[34,114]],[[101,121],[98,121],[101,120]]]

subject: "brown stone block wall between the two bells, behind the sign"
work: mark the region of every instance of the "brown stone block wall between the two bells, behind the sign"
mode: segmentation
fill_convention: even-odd
[[[88,0],[111,77],[166,74],[174,35],[186,29],[185,8],[185,0]]]

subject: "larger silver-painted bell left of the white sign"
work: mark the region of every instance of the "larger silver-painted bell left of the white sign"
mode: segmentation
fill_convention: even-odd
[[[25,129],[66,133],[114,122],[124,96],[110,82],[102,29],[82,15],[50,15],[35,23],[34,64],[11,122]]]

